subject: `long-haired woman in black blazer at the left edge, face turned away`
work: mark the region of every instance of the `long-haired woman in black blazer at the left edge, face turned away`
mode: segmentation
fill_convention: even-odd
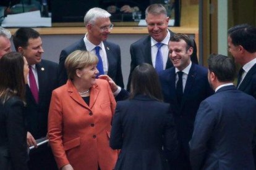
[[[0,167],[28,169],[23,109],[28,63],[18,52],[0,59]]]

